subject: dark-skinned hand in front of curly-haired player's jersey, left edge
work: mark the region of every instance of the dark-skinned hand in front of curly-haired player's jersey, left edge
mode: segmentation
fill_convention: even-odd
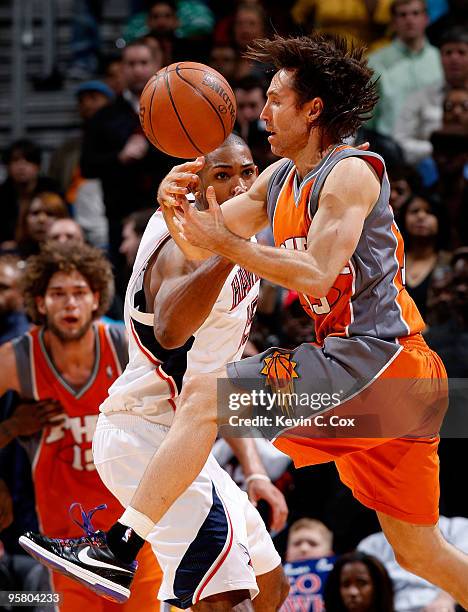
[[[10,417],[11,428],[17,436],[31,436],[47,425],[65,420],[60,402],[48,399],[40,402],[22,402]]]

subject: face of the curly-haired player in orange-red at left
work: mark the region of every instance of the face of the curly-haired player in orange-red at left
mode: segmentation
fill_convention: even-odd
[[[81,339],[99,306],[99,295],[91,291],[84,276],[77,271],[56,272],[45,295],[36,300],[47,328],[62,342]]]

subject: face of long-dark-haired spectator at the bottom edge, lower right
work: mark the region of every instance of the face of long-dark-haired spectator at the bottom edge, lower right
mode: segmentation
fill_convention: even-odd
[[[366,612],[374,609],[374,585],[364,563],[354,561],[343,566],[340,594],[346,610]]]

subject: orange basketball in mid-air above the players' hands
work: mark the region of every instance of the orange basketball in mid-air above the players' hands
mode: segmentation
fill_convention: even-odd
[[[140,122],[163,153],[192,158],[219,147],[232,132],[236,99],[226,79],[196,62],[161,68],[140,98]]]

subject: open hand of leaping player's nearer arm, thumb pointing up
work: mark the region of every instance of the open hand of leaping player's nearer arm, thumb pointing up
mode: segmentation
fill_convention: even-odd
[[[197,210],[184,203],[182,203],[182,212],[175,209],[177,227],[183,240],[216,253],[230,232],[224,224],[221,207],[211,186],[206,190],[206,199],[207,210]]]

